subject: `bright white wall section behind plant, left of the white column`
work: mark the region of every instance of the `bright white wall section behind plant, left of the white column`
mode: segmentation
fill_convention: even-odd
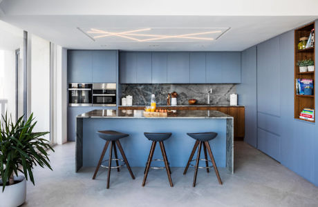
[[[50,131],[50,42],[35,35],[31,40],[28,111],[37,121],[35,132]],[[50,140],[50,135],[45,139]]]

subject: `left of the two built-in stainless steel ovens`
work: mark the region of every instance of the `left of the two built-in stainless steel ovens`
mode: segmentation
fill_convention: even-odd
[[[68,83],[68,106],[92,106],[92,83]]]

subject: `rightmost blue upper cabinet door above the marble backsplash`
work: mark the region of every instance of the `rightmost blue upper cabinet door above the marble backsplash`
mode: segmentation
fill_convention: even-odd
[[[222,83],[241,83],[241,52],[222,52]]]

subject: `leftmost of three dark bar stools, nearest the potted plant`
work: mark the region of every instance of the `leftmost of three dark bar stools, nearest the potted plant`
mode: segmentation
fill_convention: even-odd
[[[106,140],[106,144],[104,146],[104,149],[102,150],[102,155],[100,156],[100,161],[98,161],[96,170],[94,172],[93,175],[93,179],[95,179],[98,170],[100,169],[100,166],[103,168],[108,168],[108,174],[107,174],[107,188],[109,188],[109,178],[111,177],[111,168],[117,168],[117,171],[120,172],[120,167],[124,166],[124,164],[122,164],[121,166],[118,164],[118,161],[124,161],[124,163],[127,165],[127,168],[129,170],[129,173],[131,175],[131,177],[133,179],[135,179],[135,176],[133,176],[133,172],[131,171],[131,168],[129,166],[128,160],[126,155],[124,155],[124,150],[122,150],[122,145],[120,144],[119,139],[123,138],[123,137],[128,137],[129,135],[121,133],[121,132],[116,132],[116,131],[112,131],[112,130],[104,130],[104,131],[98,131],[97,135],[100,136],[100,138]],[[109,149],[109,159],[106,159],[104,161],[104,155],[106,153],[107,147],[109,146],[109,142],[111,142],[111,147]],[[116,150],[116,144],[118,146],[118,149],[120,150],[120,154],[122,154],[122,159],[118,159],[117,157],[117,150]],[[112,159],[112,152],[114,150],[114,154],[115,154],[115,159]],[[111,166],[111,161],[115,160],[116,161],[116,166],[112,167]],[[105,161],[109,161],[109,166],[103,166],[102,163]]]

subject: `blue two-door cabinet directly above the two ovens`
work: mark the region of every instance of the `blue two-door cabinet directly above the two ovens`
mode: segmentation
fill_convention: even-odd
[[[116,83],[115,50],[68,50],[68,83]]]

